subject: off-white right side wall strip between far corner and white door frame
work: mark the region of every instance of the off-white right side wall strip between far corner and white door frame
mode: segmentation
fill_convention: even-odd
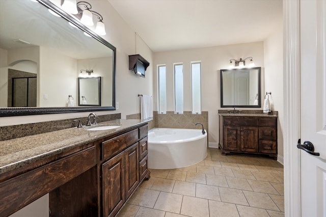
[[[279,112],[278,118],[278,161],[283,164],[283,25],[264,41],[265,89],[271,92],[269,97],[272,110]]]

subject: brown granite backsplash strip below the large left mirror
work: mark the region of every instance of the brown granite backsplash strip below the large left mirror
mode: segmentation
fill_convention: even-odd
[[[112,121],[121,119],[121,113],[99,115],[98,123],[105,121]],[[65,120],[46,121],[39,123],[19,124],[13,126],[2,126],[0,127],[0,141],[11,140],[21,137],[28,137],[29,135],[36,135],[45,132],[52,132],[62,129],[67,129],[77,126],[77,122],[73,123],[73,120],[80,119],[83,126],[87,123],[87,117],[73,118]]]

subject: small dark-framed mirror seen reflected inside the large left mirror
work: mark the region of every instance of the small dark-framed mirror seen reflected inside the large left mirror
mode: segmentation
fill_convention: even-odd
[[[101,106],[101,77],[78,77],[78,106]]]

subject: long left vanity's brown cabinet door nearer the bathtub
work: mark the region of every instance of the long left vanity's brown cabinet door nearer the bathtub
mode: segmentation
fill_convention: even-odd
[[[126,199],[139,184],[139,146],[135,143],[125,151],[125,192]]]

